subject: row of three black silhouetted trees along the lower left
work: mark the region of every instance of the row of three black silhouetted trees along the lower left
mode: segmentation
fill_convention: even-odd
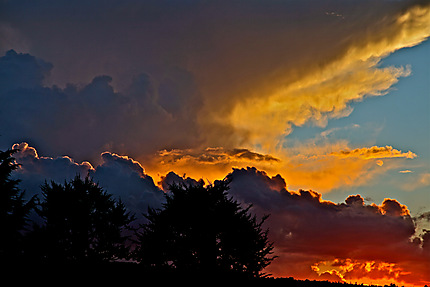
[[[162,208],[149,208],[136,224],[121,200],[88,176],[45,181],[40,195],[26,200],[11,176],[19,168],[15,152],[0,151],[2,263],[258,278],[275,258],[261,227],[266,217],[258,220],[229,197],[227,181],[172,185]]]

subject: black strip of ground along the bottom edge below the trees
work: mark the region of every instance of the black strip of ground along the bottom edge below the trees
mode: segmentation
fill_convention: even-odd
[[[44,284],[57,286],[284,286],[284,287],[357,287],[362,285],[331,283],[328,281],[296,280],[290,278],[248,278],[234,274],[184,274],[176,272],[145,271],[132,263],[103,265],[70,264],[2,264],[1,282]],[[0,286],[2,283],[0,282]],[[246,284],[246,285],[245,285]],[[15,285],[15,284],[13,284]],[[376,286],[375,286],[376,287]],[[394,287],[394,286],[390,286]]]

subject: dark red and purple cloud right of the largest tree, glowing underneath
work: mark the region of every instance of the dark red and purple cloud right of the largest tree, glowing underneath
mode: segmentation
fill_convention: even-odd
[[[411,239],[420,230],[397,200],[365,204],[352,195],[333,203],[315,191],[289,191],[281,176],[255,168],[235,169],[227,177],[230,194],[252,203],[260,216],[270,213],[266,227],[280,256],[268,270],[274,275],[327,279],[323,274],[330,271],[331,280],[406,284],[430,279],[424,271],[430,259],[427,233]]]

